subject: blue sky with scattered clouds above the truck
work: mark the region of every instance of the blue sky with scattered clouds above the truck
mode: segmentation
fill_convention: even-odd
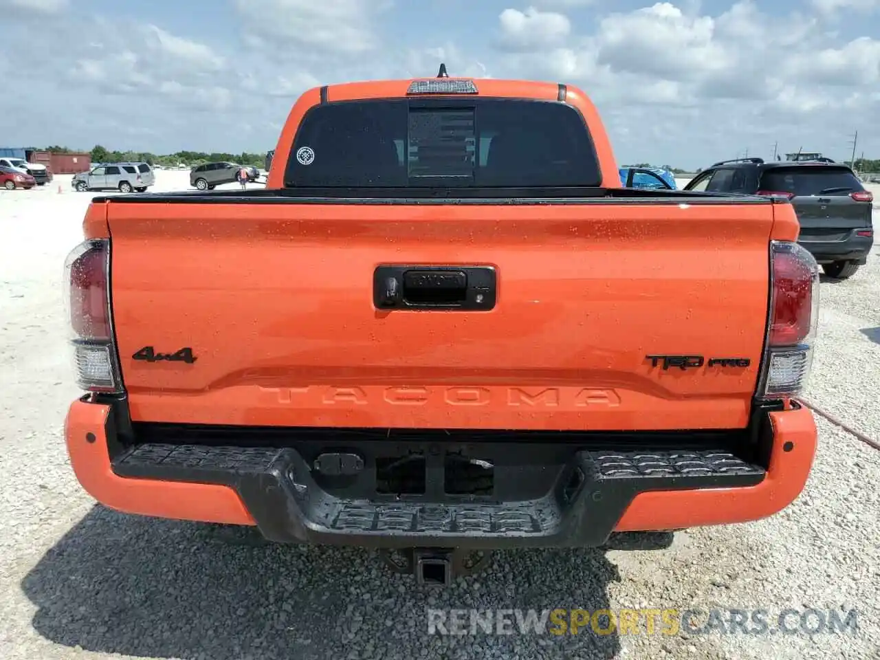
[[[0,0],[0,146],[262,152],[349,80],[573,84],[620,165],[880,158],[880,0]],[[535,127],[539,129],[539,127]]]

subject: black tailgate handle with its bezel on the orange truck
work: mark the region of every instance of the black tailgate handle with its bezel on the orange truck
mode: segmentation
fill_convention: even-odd
[[[495,307],[491,266],[379,266],[373,275],[378,309],[471,310]]]

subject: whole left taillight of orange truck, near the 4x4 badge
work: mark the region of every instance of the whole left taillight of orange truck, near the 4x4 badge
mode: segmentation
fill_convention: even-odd
[[[89,392],[122,392],[110,311],[110,241],[75,247],[64,261],[64,275],[77,385]]]

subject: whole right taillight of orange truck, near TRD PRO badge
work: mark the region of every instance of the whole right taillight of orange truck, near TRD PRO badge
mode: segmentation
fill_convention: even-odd
[[[770,310],[760,399],[801,392],[810,377],[818,325],[819,268],[797,243],[771,241]]]

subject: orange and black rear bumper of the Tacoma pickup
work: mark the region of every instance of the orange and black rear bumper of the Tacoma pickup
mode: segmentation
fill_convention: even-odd
[[[116,510],[257,525],[280,542],[491,549],[598,546],[611,532],[773,515],[802,491],[817,431],[805,408],[761,415],[752,458],[735,456],[737,451],[719,444],[720,436],[686,446],[676,444],[673,434],[657,440],[653,450],[620,439],[614,440],[616,450],[604,450],[601,443],[548,440],[546,434],[533,442],[517,434],[510,442],[329,436],[337,439],[328,443],[328,436],[316,439],[317,431],[297,436],[297,429],[255,431],[246,445],[235,431],[238,444],[232,445],[228,428],[180,425],[144,425],[151,429],[125,439],[130,426],[120,408],[86,400],[71,405],[65,432],[77,479]],[[387,476],[377,477],[378,456],[404,445],[406,451],[424,450],[426,495],[365,496]],[[337,452],[322,458],[333,469],[314,468],[316,451]],[[479,477],[494,480],[490,495],[446,494],[444,461],[432,457],[447,452],[493,458],[495,476]],[[340,456],[355,455],[362,462],[340,462]],[[651,465],[661,469],[651,473]]]

